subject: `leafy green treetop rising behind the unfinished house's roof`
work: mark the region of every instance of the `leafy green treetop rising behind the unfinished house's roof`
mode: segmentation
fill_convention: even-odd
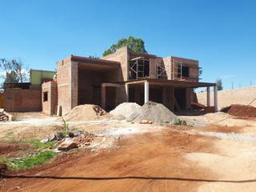
[[[134,52],[147,53],[145,50],[144,44],[145,42],[142,40],[142,38],[134,38],[132,36],[130,36],[129,38],[121,38],[118,40],[117,43],[110,46],[109,49],[105,50],[103,52],[103,56],[106,56],[108,54],[113,54],[116,50],[118,50],[122,46],[128,46],[128,49]]]

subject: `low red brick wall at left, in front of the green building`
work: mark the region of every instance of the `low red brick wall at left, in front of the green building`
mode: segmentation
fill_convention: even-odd
[[[41,90],[9,89],[4,93],[7,112],[41,111]]]

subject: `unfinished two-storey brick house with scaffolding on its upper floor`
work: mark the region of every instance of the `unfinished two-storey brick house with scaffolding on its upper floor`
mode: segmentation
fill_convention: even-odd
[[[131,52],[127,47],[101,59],[71,55],[58,62],[57,79],[42,84],[42,109],[46,114],[68,113],[74,106],[96,104],[112,110],[122,102],[161,102],[170,110],[191,107],[193,89],[210,86],[198,82],[198,61],[186,58],[160,58]]]

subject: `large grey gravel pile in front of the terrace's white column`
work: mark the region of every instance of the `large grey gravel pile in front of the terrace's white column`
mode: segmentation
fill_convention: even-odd
[[[127,118],[128,122],[172,122],[176,117],[166,106],[157,102],[146,102]]]

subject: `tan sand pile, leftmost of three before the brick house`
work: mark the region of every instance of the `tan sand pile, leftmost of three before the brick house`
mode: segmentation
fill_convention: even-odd
[[[102,118],[110,118],[111,115],[106,113],[97,105],[80,105],[75,106],[68,114],[64,116],[66,121],[94,121]]]

